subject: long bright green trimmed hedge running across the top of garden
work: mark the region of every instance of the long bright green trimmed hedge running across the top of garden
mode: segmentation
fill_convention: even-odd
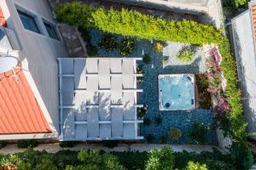
[[[122,8],[120,11],[93,8],[81,3],[65,3],[55,8],[59,22],[83,28],[159,41],[217,43],[223,36],[213,26],[191,20],[164,20]]]

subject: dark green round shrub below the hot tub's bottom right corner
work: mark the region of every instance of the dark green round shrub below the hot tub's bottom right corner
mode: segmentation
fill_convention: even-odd
[[[188,138],[196,144],[205,144],[207,141],[207,133],[207,127],[199,122],[195,122],[189,129]]]

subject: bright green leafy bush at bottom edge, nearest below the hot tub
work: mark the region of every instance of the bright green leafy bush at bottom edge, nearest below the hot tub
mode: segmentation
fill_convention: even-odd
[[[170,147],[165,147],[162,150],[150,150],[146,170],[172,170],[173,165],[174,155]]]

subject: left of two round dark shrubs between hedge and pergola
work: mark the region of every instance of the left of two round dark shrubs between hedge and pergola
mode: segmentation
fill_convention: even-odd
[[[111,34],[105,34],[99,43],[99,47],[105,49],[107,52],[117,48],[117,45],[118,42],[116,37],[113,37]]]

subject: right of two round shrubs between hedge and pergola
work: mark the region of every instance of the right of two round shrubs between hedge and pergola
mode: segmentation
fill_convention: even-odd
[[[119,42],[119,53],[129,55],[136,49],[136,41],[130,37],[125,37]]]

